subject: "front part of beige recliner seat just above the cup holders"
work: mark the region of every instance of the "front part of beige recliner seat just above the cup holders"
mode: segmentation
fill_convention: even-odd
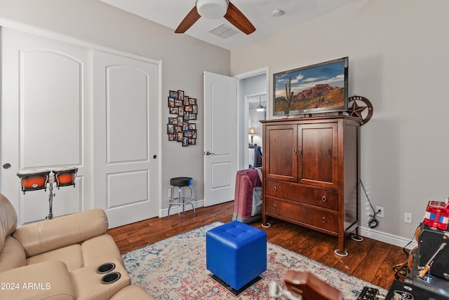
[[[81,244],[84,266],[91,264],[102,264],[105,262],[118,260],[123,264],[119,248],[112,236],[102,234],[95,238],[90,238]]]

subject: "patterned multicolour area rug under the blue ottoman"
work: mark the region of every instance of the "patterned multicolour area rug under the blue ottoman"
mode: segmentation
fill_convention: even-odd
[[[317,261],[267,243],[267,271],[262,280],[235,297],[210,278],[206,269],[206,232],[220,222],[173,236],[158,243],[123,254],[131,281],[156,299],[271,299],[269,281],[279,282],[288,269],[311,271],[330,285],[340,289],[344,299],[356,299],[364,286],[376,287]],[[224,262],[225,263],[225,262]],[[387,290],[376,287],[385,296]]]

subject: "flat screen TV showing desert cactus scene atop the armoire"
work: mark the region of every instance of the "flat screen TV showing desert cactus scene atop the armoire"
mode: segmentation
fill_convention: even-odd
[[[273,116],[347,111],[348,57],[273,74]]]

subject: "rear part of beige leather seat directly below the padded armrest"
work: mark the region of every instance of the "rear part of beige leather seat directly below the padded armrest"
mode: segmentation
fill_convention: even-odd
[[[43,261],[62,261],[69,271],[83,267],[81,245],[75,244],[27,258],[27,264],[39,264]]]

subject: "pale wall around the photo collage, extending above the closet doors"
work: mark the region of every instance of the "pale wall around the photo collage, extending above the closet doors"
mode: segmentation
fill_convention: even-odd
[[[99,46],[162,61],[162,207],[168,207],[170,178],[194,178],[203,199],[203,71],[230,74],[230,52],[95,0],[0,0],[0,18],[71,36]],[[169,90],[184,90],[199,104],[195,146],[169,142]]]

